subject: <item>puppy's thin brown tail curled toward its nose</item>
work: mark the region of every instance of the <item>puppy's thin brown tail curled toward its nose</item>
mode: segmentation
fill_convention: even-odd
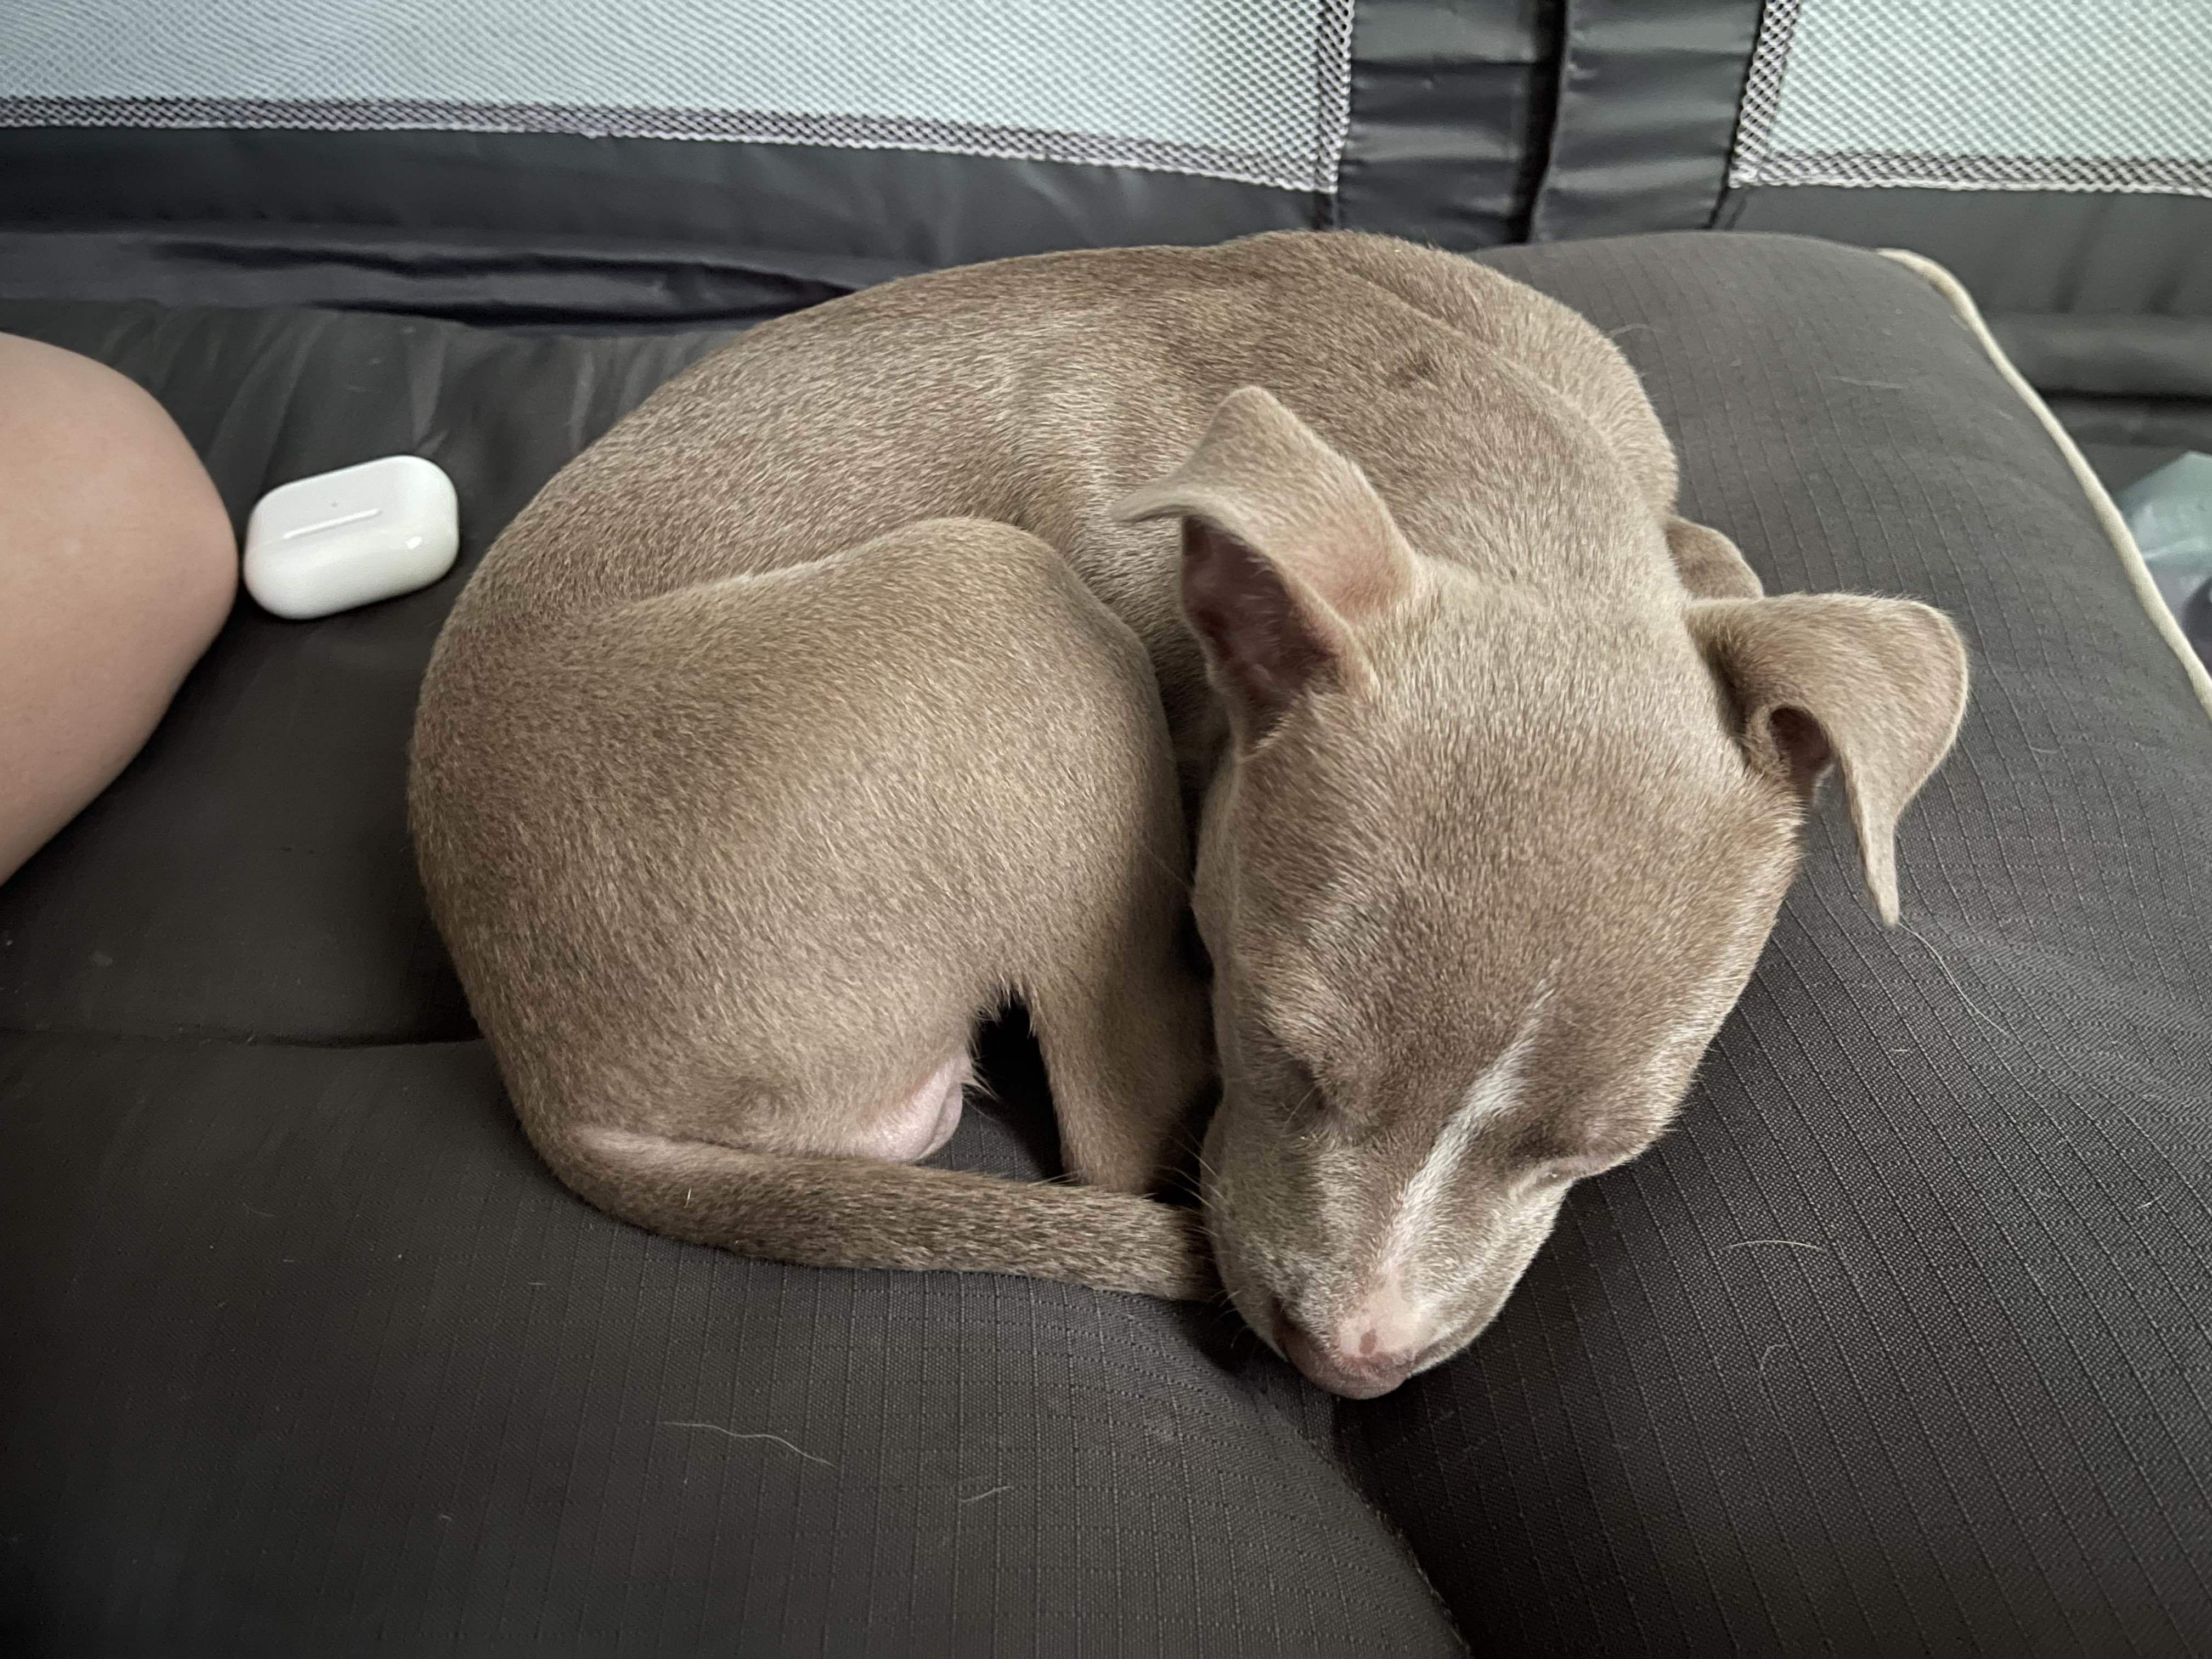
[[[542,1124],[531,1141],[599,1210],[745,1256],[1022,1274],[1170,1301],[1217,1290],[1199,1214],[1128,1192],[595,1124]]]

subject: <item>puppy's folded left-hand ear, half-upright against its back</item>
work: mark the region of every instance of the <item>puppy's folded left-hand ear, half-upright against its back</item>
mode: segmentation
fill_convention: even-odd
[[[1190,460],[1115,515],[1183,520],[1183,613],[1248,745],[1305,690],[1365,684],[1358,624],[1413,584],[1367,476],[1259,387],[1223,398]]]

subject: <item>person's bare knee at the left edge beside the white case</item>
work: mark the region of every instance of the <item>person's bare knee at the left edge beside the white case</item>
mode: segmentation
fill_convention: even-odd
[[[0,880],[139,752],[237,571],[230,515],[161,405],[0,334]]]

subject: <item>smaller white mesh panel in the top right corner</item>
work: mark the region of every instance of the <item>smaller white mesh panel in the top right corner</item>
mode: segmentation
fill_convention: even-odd
[[[1730,184],[2212,195],[2212,0],[1767,0]]]

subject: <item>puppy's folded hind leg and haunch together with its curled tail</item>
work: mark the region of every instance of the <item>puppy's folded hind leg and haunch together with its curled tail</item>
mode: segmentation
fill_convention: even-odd
[[[425,883],[584,1199],[776,1261],[1208,1294],[1197,1212],[1135,1197],[1203,1073],[1175,757],[1051,546],[911,524],[427,697]],[[1119,1192],[918,1166],[1031,989],[1075,1172]]]

